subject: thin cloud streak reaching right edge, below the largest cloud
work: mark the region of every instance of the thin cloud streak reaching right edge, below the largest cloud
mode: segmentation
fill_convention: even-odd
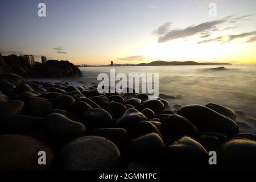
[[[214,39],[206,39],[201,42],[201,43],[208,43],[208,42],[230,42],[231,40],[238,39],[238,38],[244,38],[246,36],[251,36],[251,35],[256,35],[256,31],[251,31],[251,32],[245,32],[242,34],[237,34],[237,35],[226,35],[226,36],[218,36],[217,38]]]

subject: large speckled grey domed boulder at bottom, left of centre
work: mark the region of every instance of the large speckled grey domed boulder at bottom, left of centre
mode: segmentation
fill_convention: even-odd
[[[66,170],[103,171],[118,166],[120,152],[109,140],[87,136],[72,140],[61,150],[63,168]]]

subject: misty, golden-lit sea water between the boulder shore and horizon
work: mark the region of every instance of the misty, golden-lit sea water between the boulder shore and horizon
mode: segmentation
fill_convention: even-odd
[[[215,102],[256,118],[256,65],[225,65],[225,70],[210,70],[218,65],[113,67],[115,73],[159,73],[159,93],[174,96],[171,105]],[[83,77],[68,78],[73,84],[97,83],[99,73],[110,67],[80,68]],[[51,80],[53,81],[53,80]],[[62,81],[62,80],[55,80]]]

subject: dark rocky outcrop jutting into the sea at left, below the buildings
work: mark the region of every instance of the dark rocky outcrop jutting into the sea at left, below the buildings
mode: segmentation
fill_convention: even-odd
[[[69,61],[48,60],[45,64],[38,64],[30,69],[25,77],[79,77],[81,71]]]

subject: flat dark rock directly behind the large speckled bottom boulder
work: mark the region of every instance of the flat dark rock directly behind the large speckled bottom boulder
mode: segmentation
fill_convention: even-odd
[[[122,128],[95,129],[91,132],[91,135],[104,137],[117,144],[117,146],[123,146],[128,140],[128,133],[125,129]]]

